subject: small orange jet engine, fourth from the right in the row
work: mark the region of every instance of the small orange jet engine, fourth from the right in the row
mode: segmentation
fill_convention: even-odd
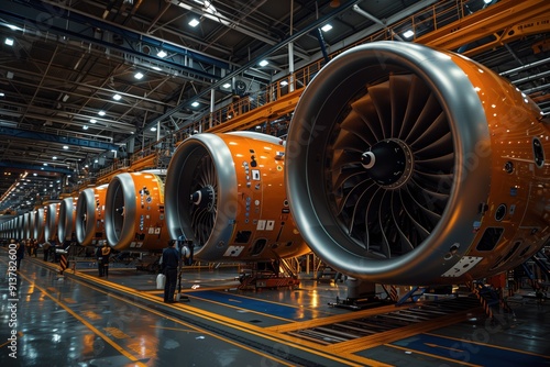
[[[76,205],[76,240],[81,246],[98,244],[106,240],[105,210],[107,186],[87,188],[80,191]]]

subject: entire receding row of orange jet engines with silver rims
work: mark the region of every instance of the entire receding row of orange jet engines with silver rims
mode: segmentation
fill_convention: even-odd
[[[319,71],[286,144],[197,134],[165,175],[118,175],[2,232],[34,227],[38,237],[44,222],[47,237],[57,220],[61,238],[74,224],[85,246],[106,238],[154,251],[190,240],[207,262],[311,249],[359,279],[458,283],[514,268],[549,243],[549,154],[548,119],[488,68],[376,42]]]

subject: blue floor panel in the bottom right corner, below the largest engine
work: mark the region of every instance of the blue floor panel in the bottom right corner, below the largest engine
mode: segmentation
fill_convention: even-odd
[[[469,341],[457,341],[447,337],[418,334],[395,343],[400,347],[410,348],[432,355],[455,359],[462,363],[469,363],[481,366],[517,367],[517,366],[548,366],[550,357],[535,356],[501,349],[487,345],[470,343]]]

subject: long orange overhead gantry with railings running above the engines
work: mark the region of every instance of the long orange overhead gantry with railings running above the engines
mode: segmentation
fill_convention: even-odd
[[[439,1],[332,53],[329,58],[360,44],[393,41],[396,34],[402,34],[406,30],[414,32],[415,35],[410,40],[413,42],[451,51],[463,47],[461,52],[466,56],[502,46],[526,35],[550,32],[550,1],[502,0],[475,13],[469,12],[469,2],[471,1]],[[324,60],[319,59],[257,92],[235,98],[231,103],[205,114],[173,135],[135,152],[123,165],[121,162],[113,163],[112,167],[99,173],[97,181],[108,182],[111,177],[122,171],[158,168],[160,155],[165,152],[156,147],[168,141],[177,142],[174,144],[177,146],[194,131],[223,133],[250,130],[265,123],[262,132],[283,135],[280,131],[285,131],[284,124],[288,124],[289,115],[296,108],[301,92],[323,64]],[[282,126],[271,126],[271,122],[282,118],[286,118]]]

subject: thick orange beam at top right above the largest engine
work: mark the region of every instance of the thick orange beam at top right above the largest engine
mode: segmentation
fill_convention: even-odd
[[[528,34],[550,31],[549,14],[548,0],[503,0],[419,36],[415,42],[454,51],[488,37],[485,43],[462,53],[472,56]]]

